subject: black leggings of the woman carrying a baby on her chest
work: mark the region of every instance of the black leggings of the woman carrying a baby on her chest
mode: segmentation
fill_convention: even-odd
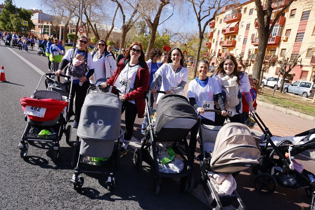
[[[82,86],[80,86],[79,84],[72,84],[72,91],[71,91],[71,99],[70,99],[70,107],[69,107],[69,114],[72,113],[73,111],[73,99],[74,99],[74,95],[76,97],[76,109],[74,111],[74,120],[79,121],[80,120],[80,115],[81,115],[81,108],[83,106],[84,103],[84,99],[86,96],[86,93],[88,91],[90,87],[90,82],[89,81],[85,81],[83,82]]]

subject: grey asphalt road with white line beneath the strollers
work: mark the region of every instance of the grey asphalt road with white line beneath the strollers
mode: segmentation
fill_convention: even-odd
[[[28,60],[45,73],[49,71],[47,57],[38,56],[37,49],[29,53],[18,52],[16,48],[12,50],[23,59],[1,43],[0,65],[5,67],[9,83],[0,83],[0,209],[209,209],[200,186],[192,194],[181,193],[178,179],[163,179],[160,195],[153,195],[154,171],[145,164],[137,172],[132,164],[133,151],[139,146],[135,139],[142,138],[141,119],[135,121],[135,139],[129,145],[127,155],[121,159],[116,187],[112,192],[107,191],[104,177],[85,174],[82,175],[85,178],[83,192],[77,193],[72,189],[69,182],[74,171],[71,167],[72,148],[66,145],[64,136],[60,141],[58,161],[52,160],[53,149],[49,143],[30,145],[26,161],[21,159],[18,144],[26,122],[19,99],[30,96],[41,77],[23,60]],[[72,141],[75,137],[76,129],[73,129]],[[315,173],[313,160],[303,156],[295,158]],[[195,177],[200,174],[197,162],[194,174]],[[247,209],[309,209],[311,201],[303,189],[278,187],[275,193],[264,196],[254,190],[253,179],[250,170],[236,177],[238,193]]]

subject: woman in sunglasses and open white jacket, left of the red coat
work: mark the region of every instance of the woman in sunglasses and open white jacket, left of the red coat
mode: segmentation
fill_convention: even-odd
[[[94,74],[90,77],[91,85],[95,85],[100,78],[109,79],[117,68],[112,54],[105,49],[106,43],[101,39],[96,45],[96,50],[91,52],[95,67]]]

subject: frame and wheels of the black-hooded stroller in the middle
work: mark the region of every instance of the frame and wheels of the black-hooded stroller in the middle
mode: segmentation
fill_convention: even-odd
[[[165,94],[165,91],[157,91],[157,93]],[[148,101],[150,101],[151,97],[151,90],[146,91],[145,95],[145,102],[146,102],[146,118],[148,120],[149,125],[149,132],[146,134],[145,139],[141,145],[140,148],[135,149],[133,162],[136,170],[140,170],[142,167],[142,161],[147,162],[151,167],[153,167],[156,171],[156,175],[153,180],[153,191],[155,195],[158,195],[160,192],[160,186],[162,184],[162,178],[180,178],[180,190],[183,192],[190,192],[194,188],[194,176],[192,173],[192,158],[190,155],[190,150],[188,147],[187,139],[186,137],[182,139],[181,141],[174,142],[171,147],[176,152],[176,154],[180,155],[181,158],[183,158],[184,162],[184,169],[180,173],[163,173],[159,171],[157,161],[157,151],[156,149],[152,149],[153,158],[150,155],[149,149],[156,148],[156,137],[153,134],[154,127],[152,126],[150,113],[152,113],[152,110],[149,109]],[[188,133],[187,133],[188,134]],[[177,145],[178,143],[178,145]],[[183,153],[180,150],[183,150],[182,147],[179,145],[185,146],[185,153],[186,157],[183,155]],[[184,151],[184,150],[183,150]],[[187,164],[188,162],[188,164]]]

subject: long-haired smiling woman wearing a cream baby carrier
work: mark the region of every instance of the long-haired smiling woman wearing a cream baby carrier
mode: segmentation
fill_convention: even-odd
[[[222,59],[220,64],[216,69],[216,76],[215,80],[218,82],[221,91],[223,90],[223,81],[225,80],[225,76],[229,77],[237,77],[236,83],[238,84],[239,91],[244,93],[244,97],[249,104],[249,111],[255,113],[253,108],[253,99],[249,90],[251,89],[248,77],[245,72],[238,71],[238,64],[233,55],[227,55]],[[241,103],[240,113],[233,113],[234,116],[230,117],[231,122],[239,122],[242,123],[242,98],[239,99],[239,103]],[[227,107],[226,109],[229,110],[231,107]],[[215,125],[223,125],[225,118],[220,115],[215,115]]]

